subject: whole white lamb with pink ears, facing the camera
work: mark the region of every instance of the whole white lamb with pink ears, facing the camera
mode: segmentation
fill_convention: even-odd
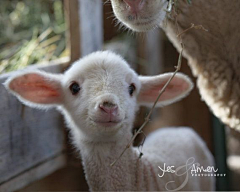
[[[20,72],[5,86],[30,107],[57,107],[64,114],[91,191],[213,190],[214,177],[192,176],[197,165],[212,166],[213,158],[189,128],[158,130],[144,143],[143,157],[131,146],[110,166],[132,137],[138,106],[151,105],[170,76],[138,76],[105,51],[82,58],[64,74]],[[158,106],[180,100],[192,87],[177,74]]]

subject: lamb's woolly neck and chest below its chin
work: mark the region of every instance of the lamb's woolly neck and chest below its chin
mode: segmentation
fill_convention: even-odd
[[[81,142],[81,156],[86,179],[91,191],[116,191],[133,189],[136,180],[138,154],[130,147],[110,166],[130,141],[131,134],[116,142]]]

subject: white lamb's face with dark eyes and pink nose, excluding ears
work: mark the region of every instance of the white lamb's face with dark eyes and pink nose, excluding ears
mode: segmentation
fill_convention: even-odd
[[[131,128],[140,81],[120,56],[97,52],[77,61],[62,86],[68,120],[84,133],[109,136]]]

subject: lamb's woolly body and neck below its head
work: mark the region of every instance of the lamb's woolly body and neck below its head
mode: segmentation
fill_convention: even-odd
[[[173,170],[183,166],[181,173],[186,172],[185,165],[189,158],[194,158],[194,163],[199,162],[204,168],[213,166],[213,158],[207,146],[192,129],[157,130],[147,137],[141,159],[138,148],[131,147],[113,167],[110,167],[127,146],[130,138],[129,132],[128,138],[123,138],[118,143],[79,143],[91,191],[166,191],[178,188],[183,191],[214,190],[213,177],[191,175],[192,164],[188,165],[188,173],[182,176],[176,176],[175,173],[158,176],[163,174],[158,166],[164,169],[164,164],[174,166]],[[170,181],[174,183],[167,185]]]

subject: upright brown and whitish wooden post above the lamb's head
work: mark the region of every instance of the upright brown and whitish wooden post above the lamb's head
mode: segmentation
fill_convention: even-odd
[[[103,4],[99,0],[65,0],[71,62],[103,44]]]

